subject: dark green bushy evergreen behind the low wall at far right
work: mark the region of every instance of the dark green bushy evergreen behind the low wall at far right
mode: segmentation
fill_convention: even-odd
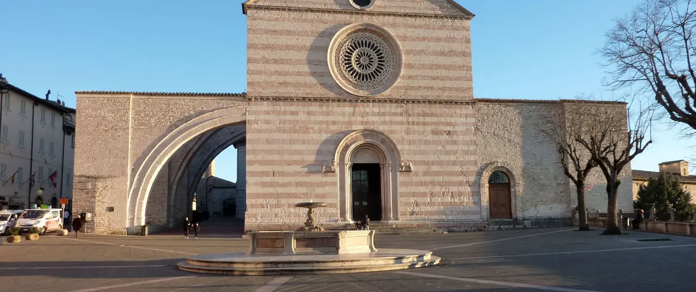
[[[638,188],[638,200],[633,207],[644,210],[645,216],[648,216],[650,204],[655,204],[655,218],[659,221],[670,220],[670,208],[677,209],[677,221],[685,221],[695,211],[691,195],[681,188],[679,177],[665,172],[661,172],[657,178],[651,177],[647,184]]]

